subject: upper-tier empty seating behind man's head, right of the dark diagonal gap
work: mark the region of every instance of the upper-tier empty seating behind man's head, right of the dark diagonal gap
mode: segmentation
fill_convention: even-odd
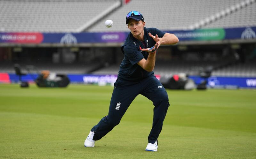
[[[125,25],[125,15],[133,10],[140,11],[145,18],[146,27],[157,27],[161,30],[182,30],[182,29],[194,29],[206,25],[206,21],[209,24],[214,25],[223,16],[233,14],[234,11],[240,11],[236,14],[239,19],[255,19],[255,7],[254,11],[252,4],[255,0],[204,0],[204,1],[188,1],[188,0],[162,0],[157,1],[157,6],[152,5],[154,0],[149,0],[147,3],[143,0],[133,0],[127,5],[113,11],[102,20],[98,21],[93,27],[90,27],[86,31],[88,32],[114,32],[114,31],[129,31]],[[143,7],[141,7],[143,6]],[[241,9],[243,7],[243,9]],[[246,9],[244,9],[246,7]],[[238,10],[239,8],[239,10]],[[247,8],[251,8],[247,10]],[[156,12],[152,10],[157,10]],[[224,12],[223,12],[224,11]],[[244,14],[243,14],[244,13]],[[216,16],[217,15],[217,16]],[[222,16],[223,15],[223,16]],[[107,19],[111,19],[114,22],[112,28],[106,28],[104,22]],[[206,19],[204,21],[204,19]],[[236,21],[236,20],[233,20]],[[156,24],[157,23],[157,24]],[[201,25],[201,23],[203,25]],[[222,23],[216,23],[214,27],[224,26],[248,26],[256,25],[255,20],[246,20],[245,23],[226,21],[228,25]],[[231,23],[231,24],[229,24]],[[237,25],[238,24],[238,25]],[[209,26],[210,27],[210,26]]]

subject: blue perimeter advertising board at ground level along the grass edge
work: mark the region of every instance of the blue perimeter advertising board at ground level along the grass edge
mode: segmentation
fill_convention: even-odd
[[[1,75],[3,77],[1,77]],[[8,77],[7,77],[8,75]],[[28,74],[22,76],[23,81],[34,81],[37,78],[37,74]],[[72,83],[84,83],[84,84],[99,84],[99,85],[113,85],[117,79],[117,75],[93,75],[93,74],[68,74],[68,78]],[[160,75],[156,75],[156,78],[160,80]],[[207,81],[207,85],[212,88],[256,88],[256,77],[219,77],[212,76],[204,79],[199,76],[190,76],[190,79],[194,80],[196,84],[199,84],[203,80]],[[2,79],[2,81],[1,81]],[[7,79],[7,80],[6,80]],[[18,82],[19,76],[16,74],[0,73],[1,82]]]

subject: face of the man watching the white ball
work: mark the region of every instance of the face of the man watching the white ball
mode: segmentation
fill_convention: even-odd
[[[144,26],[145,22],[143,22],[142,20],[136,21],[134,19],[130,19],[128,22],[128,28],[131,30],[133,36],[140,36],[140,34],[143,32]]]

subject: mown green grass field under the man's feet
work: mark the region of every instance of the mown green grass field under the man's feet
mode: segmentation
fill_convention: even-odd
[[[153,104],[139,95],[94,148],[113,87],[0,84],[0,158],[256,158],[255,90],[168,90],[158,151],[145,152]]]

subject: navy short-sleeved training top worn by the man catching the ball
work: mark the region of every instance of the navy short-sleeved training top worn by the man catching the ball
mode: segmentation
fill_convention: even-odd
[[[121,46],[121,50],[124,53],[124,59],[120,65],[118,72],[118,79],[128,80],[128,81],[140,81],[144,78],[154,75],[154,72],[148,72],[144,70],[137,63],[140,62],[143,58],[147,60],[148,52],[141,51],[141,49],[151,48],[156,44],[153,38],[151,38],[148,33],[158,37],[163,37],[166,32],[160,31],[156,28],[146,28],[144,27],[144,41],[133,37],[132,33],[130,33],[124,45]]]

